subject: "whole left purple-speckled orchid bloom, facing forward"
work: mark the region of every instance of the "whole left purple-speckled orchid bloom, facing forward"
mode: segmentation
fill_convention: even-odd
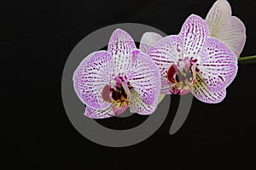
[[[73,85],[86,105],[85,116],[107,118],[131,112],[155,111],[160,94],[160,72],[148,54],[136,48],[130,35],[113,31],[108,51],[89,54],[73,74]]]

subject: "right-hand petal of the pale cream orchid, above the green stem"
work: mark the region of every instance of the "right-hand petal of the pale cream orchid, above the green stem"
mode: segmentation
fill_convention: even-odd
[[[224,31],[219,34],[218,39],[229,46],[239,57],[245,45],[246,37],[246,27],[236,16],[232,16]]]

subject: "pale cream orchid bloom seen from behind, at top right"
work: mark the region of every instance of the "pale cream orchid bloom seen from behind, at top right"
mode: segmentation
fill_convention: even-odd
[[[207,14],[206,22],[211,37],[224,42],[239,57],[246,42],[246,28],[240,19],[231,15],[230,3],[216,1]]]

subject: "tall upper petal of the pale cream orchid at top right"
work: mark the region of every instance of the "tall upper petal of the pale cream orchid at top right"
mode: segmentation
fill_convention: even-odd
[[[224,28],[229,24],[230,17],[230,3],[226,0],[218,0],[212,5],[206,18],[211,37],[219,37],[222,31],[224,31]]]

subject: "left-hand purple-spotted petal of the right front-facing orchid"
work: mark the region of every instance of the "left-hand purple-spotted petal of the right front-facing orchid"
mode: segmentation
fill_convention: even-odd
[[[152,48],[148,49],[148,55],[160,70],[161,94],[170,94],[172,83],[167,80],[167,71],[178,59],[183,58],[183,42],[179,36],[168,36],[156,42]],[[164,90],[165,89],[165,90]]]

